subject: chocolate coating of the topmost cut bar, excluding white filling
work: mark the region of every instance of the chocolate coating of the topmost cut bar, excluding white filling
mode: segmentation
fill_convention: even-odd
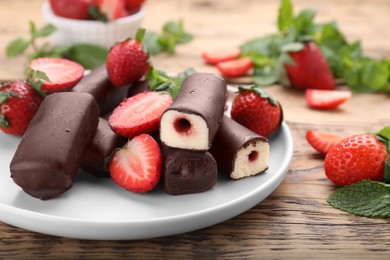
[[[209,131],[209,147],[221,124],[227,95],[226,82],[210,73],[194,73],[183,81],[179,95],[167,109],[202,117]]]

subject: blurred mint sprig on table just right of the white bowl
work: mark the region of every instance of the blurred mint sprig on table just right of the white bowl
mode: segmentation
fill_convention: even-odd
[[[146,32],[142,43],[150,55],[163,52],[174,54],[177,45],[188,43],[192,39],[193,36],[185,31],[184,21],[180,19],[178,22],[169,21],[165,23],[161,33]]]

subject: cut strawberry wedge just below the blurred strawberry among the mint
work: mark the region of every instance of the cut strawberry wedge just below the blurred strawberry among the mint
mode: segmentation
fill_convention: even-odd
[[[349,90],[307,89],[306,103],[316,109],[334,109],[351,97]]]

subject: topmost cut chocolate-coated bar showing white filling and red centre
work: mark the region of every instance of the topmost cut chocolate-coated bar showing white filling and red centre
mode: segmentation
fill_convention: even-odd
[[[188,76],[176,100],[161,117],[162,143],[174,148],[208,150],[222,121],[226,93],[225,81],[216,75]]]

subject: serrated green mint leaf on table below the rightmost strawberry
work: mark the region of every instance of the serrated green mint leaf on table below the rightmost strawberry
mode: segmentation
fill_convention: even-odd
[[[344,186],[327,199],[334,208],[365,217],[390,217],[390,186],[363,180]]]

